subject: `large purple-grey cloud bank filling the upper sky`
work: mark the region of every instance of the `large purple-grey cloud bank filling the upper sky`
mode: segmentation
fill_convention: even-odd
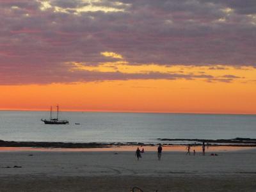
[[[0,70],[14,74],[12,81],[38,82],[63,70],[66,79],[74,76],[65,67],[71,61],[256,67],[255,6],[254,0],[0,0]],[[106,51],[112,56],[100,54]]]

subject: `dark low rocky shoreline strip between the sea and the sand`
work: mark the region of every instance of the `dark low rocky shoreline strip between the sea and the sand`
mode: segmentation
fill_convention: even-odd
[[[202,140],[202,139],[167,139],[158,138],[159,143],[165,146],[200,146],[204,142],[209,147],[256,147],[256,139],[235,138],[230,140]],[[172,142],[173,143],[170,143]],[[159,143],[140,142],[113,142],[113,143],[72,143],[72,142],[41,142],[41,141],[3,141],[0,140],[0,147],[38,147],[38,148],[111,148],[124,146],[149,146],[154,147]]]

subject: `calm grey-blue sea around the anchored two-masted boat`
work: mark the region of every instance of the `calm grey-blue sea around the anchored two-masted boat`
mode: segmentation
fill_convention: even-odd
[[[61,112],[60,116],[70,124],[45,125],[40,119],[49,118],[47,111],[0,111],[0,140],[157,143],[157,138],[256,138],[256,115]]]

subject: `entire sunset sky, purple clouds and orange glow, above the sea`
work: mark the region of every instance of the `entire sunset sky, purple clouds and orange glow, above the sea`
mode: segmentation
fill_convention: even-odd
[[[255,0],[0,0],[0,109],[256,114]]]

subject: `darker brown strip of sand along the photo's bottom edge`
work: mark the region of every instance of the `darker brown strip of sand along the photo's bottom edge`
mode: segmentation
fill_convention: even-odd
[[[164,176],[164,177],[7,177],[1,179],[3,192],[38,191],[38,192],[129,192],[132,187],[140,186],[145,192],[255,192],[255,175],[195,177]]]

